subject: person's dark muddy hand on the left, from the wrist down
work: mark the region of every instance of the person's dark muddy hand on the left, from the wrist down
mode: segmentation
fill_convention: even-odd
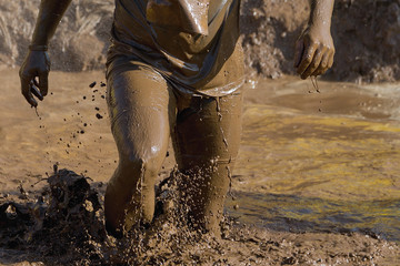
[[[19,71],[21,92],[28,103],[36,108],[38,102],[48,93],[48,76],[50,72],[50,58],[47,51],[29,51]]]

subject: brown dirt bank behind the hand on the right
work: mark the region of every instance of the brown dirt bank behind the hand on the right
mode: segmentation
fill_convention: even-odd
[[[243,47],[250,72],[279,78],[293,73],[293,43],[309,13],[307,0],[242,3]],[[336,81],[400,79],[400,1],[337,0],[332,17]]]

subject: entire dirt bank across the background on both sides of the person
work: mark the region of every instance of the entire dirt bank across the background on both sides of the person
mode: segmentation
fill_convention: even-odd
[[[19,65],[39,0],[0,3],[0,65]],[[72,1],[51,42],[53,70],[102,69],[112,0]],[[293,73],[293,43],[309,13],[307,0],[243,0],[241,31],[248,74]],[[332,21],[337,55],[329,79],[400,80],[400,0],[337,0]]]

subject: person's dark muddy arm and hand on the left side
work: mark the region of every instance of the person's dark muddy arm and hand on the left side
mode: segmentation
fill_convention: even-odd
[[[40,3],[30,51],[19,72],[21,92],[32,106],[38,105],[33,95],[43,100],[48,93],[50,60],[47,47],[70,2],[71,0],[42,0]]]

